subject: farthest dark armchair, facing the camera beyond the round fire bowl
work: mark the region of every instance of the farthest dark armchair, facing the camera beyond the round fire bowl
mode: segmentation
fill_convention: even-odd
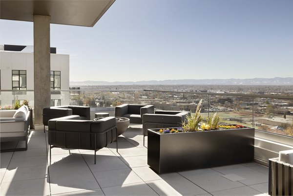
[[[144,114],[153,113],[153,105],[135,105],[135,104],[123,104],[115,108],[116,117],[129,118],[133,124],[142,124],[142,118]]]

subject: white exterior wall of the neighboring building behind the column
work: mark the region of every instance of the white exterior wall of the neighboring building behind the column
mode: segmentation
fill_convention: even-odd
[[[69,55],[51,54],[51,70],[61,71],[61,90],[69,89]],[[1,90],[12,89],[12,70],[26,70],[26,89],[34,90],[34,53],[0,51],[0,81]],[[14,93],[15,94],[15,93]],[[34,104],[34,93],[26,95],[13,95],[12,92],[1,91],[1,107],[11,106],[12,100],[28,100],[29,105]],[[61,105],[69,105],[69,92],[61,95],[51,95],[51,99],[61,99]]]

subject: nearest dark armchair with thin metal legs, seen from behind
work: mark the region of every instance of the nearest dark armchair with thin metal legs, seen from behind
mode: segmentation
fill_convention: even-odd
[[[78,115],[51,119],[48,122],[48,142],[50,161],[52,148],[84,149],[95,151],[117,141],[115,117],[105,117],[97,121],[79,120]]]

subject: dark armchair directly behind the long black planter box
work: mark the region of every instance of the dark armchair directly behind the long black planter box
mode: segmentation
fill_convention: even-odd
[[[145,114],[143,116],[144,146],[148,129],[178,127],[187,120],[187,116],[190,116],[188,111],[157,110],[154,114]]]

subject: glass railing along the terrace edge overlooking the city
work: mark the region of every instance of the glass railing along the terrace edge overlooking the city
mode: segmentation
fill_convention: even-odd
[[[1,90],[0,100],[1,109],[11,108],[16,100],[20,103],[27,100],[34,108],[33,90]],[[121,104],[154,105],[155,109],[193,113],[200,100],[203,100],[201,114],[204,117],[217,112],[225,123],[293,136],[293,95],[141,89],[51,90],[51,106],[90,106],[92,118],[99,111],[114,116],[115,107]]]

